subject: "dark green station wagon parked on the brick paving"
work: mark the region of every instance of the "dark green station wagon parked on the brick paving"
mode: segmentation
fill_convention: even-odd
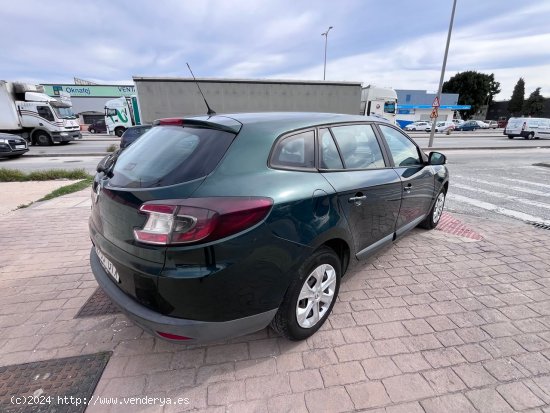
[[[321,327],[350,263],[434,228],[445,156],[379,118],[170,118],[98,167],[90,262],[106,294],[184,343]]]

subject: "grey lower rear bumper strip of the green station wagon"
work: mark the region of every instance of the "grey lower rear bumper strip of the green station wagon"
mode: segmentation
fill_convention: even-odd
[[[102,290],[136,324],[149,333],[168,340],[159,332],[189,337],[177,341],[183,344],[205,343],[253,333],[265,328],[275,316],[277,308],[252,316],[230,321],[211,322],[168,317],[157,313],[127,296],[105,272],[94,250],[90,251],[90,266]]]

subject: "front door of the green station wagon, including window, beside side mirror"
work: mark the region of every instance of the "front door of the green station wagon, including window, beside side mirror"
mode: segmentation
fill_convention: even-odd
[[[435,195],[435,172],[407,135],[387,124],[378,124],[378,127],[401,179],[402,201],[396,224],[396,233],[401,235],[428,214]]]

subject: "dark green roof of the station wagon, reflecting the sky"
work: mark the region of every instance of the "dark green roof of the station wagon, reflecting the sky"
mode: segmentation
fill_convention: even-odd
[[[195,116],[191,119],[208,121],[227,125],[231,121],[238,122],[247,129],[265,129],[275,133],[283,133],[295,129],[303,129],[316,125],[327,125],[346,122],[382,122],[391,124],[379,117],[346,115],[340,113],[317,112],[258,112],[258,113],[230,113],[214,116]]]

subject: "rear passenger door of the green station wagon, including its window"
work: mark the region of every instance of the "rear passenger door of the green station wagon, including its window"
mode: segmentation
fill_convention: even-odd
[[[401,181],[371,124],[319,131],[320,170],[335,189],[363,258],[393,240],[401,205]]]

